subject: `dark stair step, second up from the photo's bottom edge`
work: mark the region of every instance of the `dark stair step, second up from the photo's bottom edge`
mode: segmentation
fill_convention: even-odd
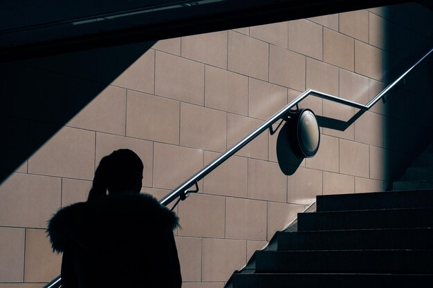
[[[433,273],[432,250],[258,251],[256,273]]]

